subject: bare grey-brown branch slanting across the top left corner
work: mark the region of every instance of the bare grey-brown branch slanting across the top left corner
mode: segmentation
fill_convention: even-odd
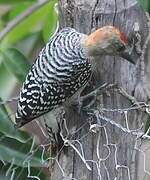
[[[7,33],[9,31],[11,31],[16,25],[21,23],[22,20],[27,18],[29,15],[31,15],[31,13],[33,13],[34,11],[36,11],[37,9],[39,9],[40,7],[42,7],[43,5],[45,5],[48,2],[50,2],[50,0],[40,1],[40,2],[38,2],[36,4],[34,4],[33,6],[31,6],[26,11],[24,11],[20,16],[16,17],[16,19],[10,21],[8,23],[8,25],[6,26],[6,28],[4,28],[3,31],[1,31],[1,33],[0,33],[0,41],[2,41],[4,39],[4,37],[7,35]]]

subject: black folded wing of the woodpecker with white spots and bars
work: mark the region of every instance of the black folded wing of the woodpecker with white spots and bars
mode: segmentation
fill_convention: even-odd
[[[74,95],[91,75],[91,65],[88,62],[75,61],[70,69],[67,69],[64,76],[59,76],[59,81],[54,79],[47,83],[44,78],[40,81],[33,78],[32,71],[28,74],[23,85],[16,113],[17,127],[21,127],[31,120],[51,111],[62,105]]]

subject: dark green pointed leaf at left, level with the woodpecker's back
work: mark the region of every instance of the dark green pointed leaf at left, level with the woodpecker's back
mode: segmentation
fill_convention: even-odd
[[[2,51],[4,64],[14,74],[14,76],[23,83],[30,65],[26,57],[17,49],[8,48]]]

